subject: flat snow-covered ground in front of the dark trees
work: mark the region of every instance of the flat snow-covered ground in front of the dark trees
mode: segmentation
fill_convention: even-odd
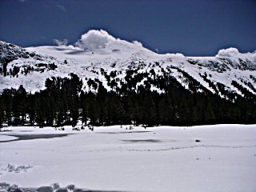
[[[8,130],[0,133],[0,182],[116,191],[256,191],[256,125]]]

